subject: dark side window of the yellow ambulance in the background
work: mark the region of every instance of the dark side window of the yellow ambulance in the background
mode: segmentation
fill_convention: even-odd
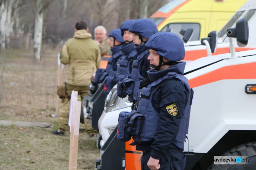
[[[179,35],[182,38],[182,35],[180,34],[180,30],[186,30],[188,28],[194,28],[193,35],[190,39],[190,41],[196,41],[199,40],[200,36],[200,24],[199,23],[170,23],[163,27],[161,31],[167,31],[168,29],[172,29],[172,33],[175,33]]]

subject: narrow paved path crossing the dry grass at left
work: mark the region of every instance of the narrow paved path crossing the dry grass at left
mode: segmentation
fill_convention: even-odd
[[[24,122],[13,120],[0,120],[0,125],[9,126],[15,124],[20,127],[40,127],[40,128],[52,128],[52,124],[49,122]]]

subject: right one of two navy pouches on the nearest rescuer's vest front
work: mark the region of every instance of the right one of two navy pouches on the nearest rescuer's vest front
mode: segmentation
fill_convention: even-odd
[[[137,111],[132,111],[128,115],[127,131],[132,136],[140,136],[145,117],[142,114],[139,114]]]

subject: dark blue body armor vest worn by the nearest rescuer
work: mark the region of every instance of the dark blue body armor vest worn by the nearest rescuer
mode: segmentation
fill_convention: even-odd
[[[137,112],[144,116],[144,123],[142,123],[140,134],[136,133],[138,134],[137,136],[133,135],[133,140],[135,144],[152,141],[154,139],[154,135],[158,128],[159,113],[155,111],[152,105],[153,96],[159,89],[159,87],[169,79],[180,80],[182,84],[185,86],[186,90],[188,91],[188,100],[184,108],[184,116],[181,119],[180,129],[174,141],[174,145],[177,148],[184,150],[184,142],[186,134],[188,133],[188,124],[191,102],[193,98],[193,89],[190,89],[188,80],[184,77],[184,75],[177,74],[174,72],[169,72],[167,75],[147,85],[147,87],[142,88]],[[133,116],[136,116],[136,114]]]

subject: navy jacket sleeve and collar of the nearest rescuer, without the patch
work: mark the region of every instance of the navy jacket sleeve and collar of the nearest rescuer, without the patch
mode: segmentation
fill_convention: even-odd
[[[170,66],[169,68],[173,68],[171,72],[183,74],[185,62],[181,62],[177,65]],[[165,74],[164,70],[160,72],[150,70],[149,72],[154,72],[154,77],[149,75],[151,82],[153,82],[154,79],[158,79],[159,77],[162,77]],[[177,99],[177,101],[176,99],[173,99],[173,97],[171,97],[171,95],[174,93],[178,94],[179,98]],[[164,154],[168,148],[177,148],[172,143],[174,142],[179,131],[181,118],[183,117],[183,109],[187,103],[187,100],[188,91],[186,90],[185,86],[181,83],[181,81],[176,79],[170,79],[166,81],[156,91],[152,101],[154,109],[159,113],[159,126],[156,134],[154,135],[154,140],[150,142],[140,143],[139,145],[136,146],[136,150],[151,151],[151,157],[155,159],[160,159],[161,155]],[[166,110],[166,106],[171,105],[173,103],[176,104],[178,110],[176,116],[170,115]],[[160,104],[163,106],[160,107]]]

